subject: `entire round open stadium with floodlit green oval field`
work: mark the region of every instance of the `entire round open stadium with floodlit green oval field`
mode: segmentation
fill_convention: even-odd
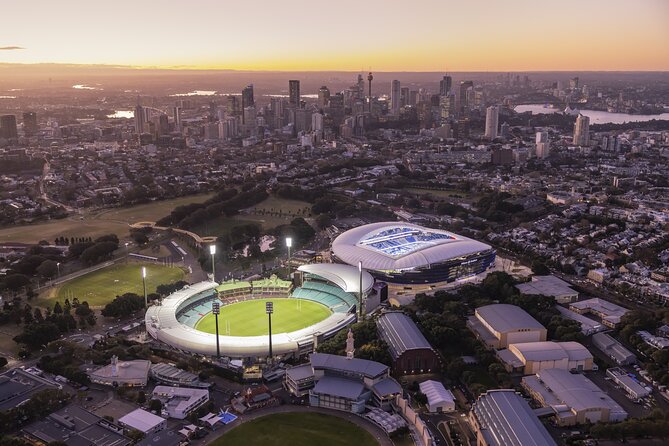
[[[217,354],[212,304],[218,316],[220,355],[230,359],[263,358],[269,354],[265,303],[274,305],[272,353],[289,358],[312,352],[325,340],[357,320],[359,290],[363,308],[372,311],[374,278],[357,267],[310,264],[297,269],[299,284],[275,276],[253,282],[200,282],[149,307],[147,332],[176,349],[208,356]],[[374,303],[376,302],[376,303]]]

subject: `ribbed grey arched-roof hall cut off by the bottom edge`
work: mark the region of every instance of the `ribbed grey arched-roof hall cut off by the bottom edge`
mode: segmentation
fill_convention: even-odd
[[[479,396],[469,419],[477,446],[557,446],[527,401],[511,389]]]

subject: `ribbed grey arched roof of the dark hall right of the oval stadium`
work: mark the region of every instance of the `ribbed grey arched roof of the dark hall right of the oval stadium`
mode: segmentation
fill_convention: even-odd
[[[408,350],[432,349],[414,321],[399,311],[384,313],[376,321],[381,337],[390,349],[393,359]]]

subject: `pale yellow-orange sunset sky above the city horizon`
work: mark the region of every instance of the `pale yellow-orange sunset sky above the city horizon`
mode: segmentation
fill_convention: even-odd
[[[413,16],[379,1],[346,0],[335,9],[303,0],[280,7],[196,0],[189,4],[192,18],[182,9],[125,0],[72,0],[34,15],[41,4],[47,7],[38,0],[7,8],[0,63],[259,71],[669,70],[669,48],[661,45],[669,41],[663,23],[669,4],[659,0],[569,0],[560,8],[527,0],[419,0]],[[286,26],[291,21],[298,26]]]

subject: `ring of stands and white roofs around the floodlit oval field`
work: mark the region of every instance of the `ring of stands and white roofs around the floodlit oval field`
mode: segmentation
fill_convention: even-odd
[[[290,333],[272,333],[276,357],[295,357],[311,353],[321,342],[357,320],[358,294],[372,290],[373,277],[357,268],[337,264],[312,264],[300,267],[305,280],[289,297],[306,299],[326,306],[331,314],[324,320]],[[241,283],[244,286],[244,283]],[[223,289],[225,292],[217,291]],[[266,291],[266,290],[265,290]],[[212,304],[229,296],[229,289],[215,282],[200,282],[167,296],[149,307],[145,316],[147,332],[175,349],[208,356],[216,355],[216,335],[197,330],[197,322],[211,312]],[[260,295],[235,295],[235,299],[266,298]],[[225,303],[225,302],[224,302]],[[263,358],[269,352],[268,336],[219,336],[221,356],[230,359]]]

